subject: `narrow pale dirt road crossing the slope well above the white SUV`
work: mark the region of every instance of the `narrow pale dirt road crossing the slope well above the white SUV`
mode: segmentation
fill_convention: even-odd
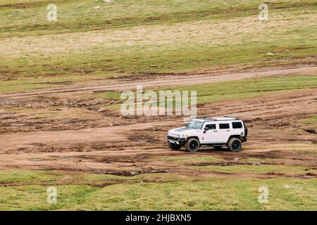
[[[304,68],[292,68],[284,70],[268,70],[261,72],[243,72],[232,74],[220,74],[220,75],[179,75],[177,77],[166,77],[161,79],[142,79],[137,82],[110,82],[100,86],[85,86],[85,87],[73,87],[64,89],[46,89],[40,91],[32,91],[27,93],[17,94],[1,94],[0,98],[18,98],[22,96],[42,96],[45,94],[58,94],[65,92],[75,91],[123,91],[135,89],[137,85],[142,85],[144,88],[153,88],[159,86],[173,86],[173,85],[192,85],[192,84],[205,84],[212,82],[225,82],[254,77],[272,77],[272,76],[287,76],[287,75],[316,75],[317,67],[304,67]]]

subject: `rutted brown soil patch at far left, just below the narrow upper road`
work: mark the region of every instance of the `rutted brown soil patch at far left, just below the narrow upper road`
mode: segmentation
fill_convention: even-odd
[[[2,100],[0,101],[0,109],[2,109],[2,112],[0,111],[0,134],[39,130],[85,129],[116,126],[125,122],[120,120],[120,116],[102,110],[103,107],[116,103],[116,101],[105,98],[80,97],[35,96]],[[79,109],[78,113],[76,110]],[[76,117],[76,114],[80,113],[83,115]],[[49,117],[46,117],[47,115]]]

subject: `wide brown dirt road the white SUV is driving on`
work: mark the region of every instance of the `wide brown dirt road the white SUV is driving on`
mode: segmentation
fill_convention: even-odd
[[[241,105],[246,107],[241,108]],[[317,167],[316,158],[309,153],[316,150],[316,131],[311,131],[300,122],[302,118],[317,112],[316,89],[222,101],[199,107],[199,116],[217,113],[247,119],[249,142],[240,153],[204,148],[198,153],[191,154],[192,156],[223,158],[226,160],[223,163],[228,165],[246,163],[237,161],[236,158],[258,158],[275,160],[274,163],[279,165],[301,166],[307,169]],[[0,168],[60,169],[128,176],[140,172],[204,173],[199,169],[188,169],[180,162],[160,160],[189,155],[183,150],[171,151],[166,145],[166,131],[180,126],[180,118],[157,117],[152,118],[151,122],[140,122],[141,119],[131,121],[129,118],[125,120],[126,123],[119,126],[0,134]],[[289,175],[236,173],[235,176]],[[300,176],[306,177],[305,174]]]

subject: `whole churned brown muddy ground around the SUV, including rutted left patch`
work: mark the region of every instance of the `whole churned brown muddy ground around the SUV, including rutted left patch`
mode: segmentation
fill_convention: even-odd
[[[305,167],[306,173],[237,172],[233,175],[317,177],[317,127],[302,122],[304,118],[316,116],[317,89],[198,105],[199,117],[230,115],[245,120],[249,127],[249,141],[240,153],[231,153],[225,148],[202,148],[198,153],[169,150],[166,132],[182,126],[182,118],[123,117],[116,110],[103,110],[104,105],[113,103],[116,101],[92,98],[82,90],[76,94],[61,92],[1,98],[0,169],[63,170],[123,176],[156,172],[217,176],[219,172],[199,167],[290,165]],[[23,110],[12,110],[16,108]],[[53,113],[61,113],[61,116],[36,116],[48,108]],[[68,116],[78,109],[81,110],[80,116]],[[173,158],[188,156],[215,157],[222,161],[192,164],[173,161]],[[256,160],[245,160],[250,158]]]

